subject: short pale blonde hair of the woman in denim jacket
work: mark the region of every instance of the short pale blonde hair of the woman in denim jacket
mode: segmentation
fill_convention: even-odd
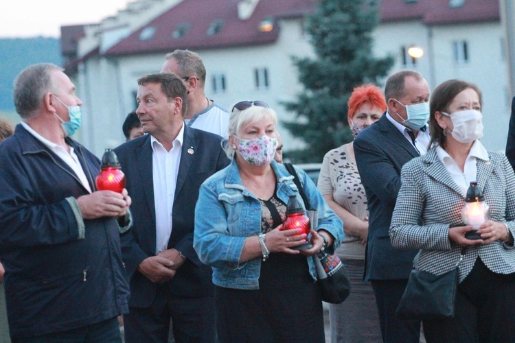
[[[227,135],[239,138],[242,126],[257,123],[258,121],[268,118],[271,118],[273,125],[277,126],[277,113],[275,113],[275,110],[272,108],[255,105],[252,105],[245,110],[234,108],[231,112],[231,117],[229,118],[229,124],[227,125]],[[222,147],[224,148],[227,157],[232,159],[234,156],[234,148],[231,147],[227,139],[222,141]]]

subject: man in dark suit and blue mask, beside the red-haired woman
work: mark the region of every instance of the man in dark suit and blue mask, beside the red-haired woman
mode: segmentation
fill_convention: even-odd
[[[354,140],[369,208],[365,280],[371,282],[376,296],[382,340],[418,342],[420,321],[395,316],[417,250],[394,250],[389,227],[402,166],[425,154],[431,140],[426,130],[429,86],[419,73],[399,71],[388,78],[385,97],[386,115]]]

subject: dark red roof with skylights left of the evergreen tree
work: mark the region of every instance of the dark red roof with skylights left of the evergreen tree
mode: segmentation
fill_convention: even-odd
[[[312,10],[312,0],[261,0],[249,19],[242,20],[236,1],[187,0],[108,49],[106,56],[268,45],[277,40],[279,26],[262,32],[261,23],[299,18]],[[143,39],[147,30],[152,34]]]

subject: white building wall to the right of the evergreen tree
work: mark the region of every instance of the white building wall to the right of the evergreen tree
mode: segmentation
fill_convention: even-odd
[[[504,151],[511,97],[507,94],[508,75],[502,36],[499,22],[433,27],[427,27],[420,21],[384,23],[374,32],[374,54],[391,54],[396,58],[391,73],[401,69],[422,73],[431,90],[453,78],[477,84],[483,93],[485,129],[481,141],[488,150]],[[455,60],[455,41],[467,42],[467,62]],[[415,65],[404,66],[401,47],[411,45],[422,47],[425,54]]]

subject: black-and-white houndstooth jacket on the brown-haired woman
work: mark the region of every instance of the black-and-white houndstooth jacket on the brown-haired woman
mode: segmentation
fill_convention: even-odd
[[[503,222],[515,237],[515,175],[503,154],[488,152],[490,161],[477,158],[477,182],[490,206],[490,219]],[[402,186],[390,226],[394,248],[420,249],[414,267],[433,274],[455,268],[461,247],[450,241],[450,226],[464,226],[465,200],[458,185],[439,160],[435,148],[414,158],[401,172]],[[459,281],[477,257],[493,272],[515,272],[515,249],[501,241],[468,246],[459,265]]]

